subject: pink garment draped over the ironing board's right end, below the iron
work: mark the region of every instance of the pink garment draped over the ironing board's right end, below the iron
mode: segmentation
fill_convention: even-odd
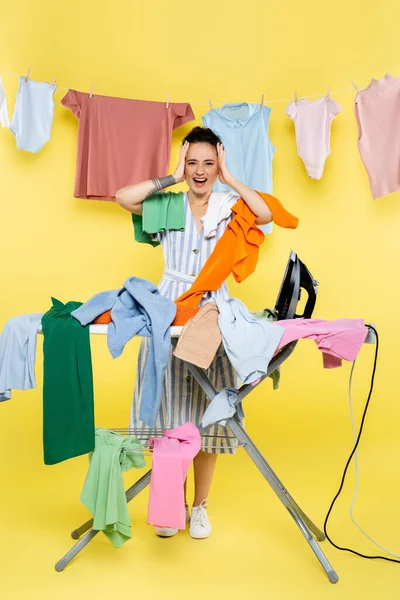
[[[340,367],[342,358],[353,362],[368,333],[362,319],[288,319],[276,321],[275,324],[285,330],[278,351],[294,340],[314,340],[318,349],[323,352],[325,369]]]

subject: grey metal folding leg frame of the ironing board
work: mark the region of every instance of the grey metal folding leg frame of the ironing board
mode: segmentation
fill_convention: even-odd
[[[181,328],[171,328],[171,343],[173,345],[176,344],[177,338],[179,337],[178,330],[181,330]],[[90,332],[106,333],[107,326],[91,325]],[[242,401],[252,390],[254,390],[258,385],[260,385],[264,381],[264,379],[268,377],[270,373],[272,373],[272,371],[274,371],[277,367],[284,363],[292,354],[296,345],[297,341],[291,342],[290,344],[282,348],[282,350],[280,350],[278,354],[276,354],[276,356],[271,360],[268,366],[267,374],[261,378],[257,385],[243,385],[238,391],[237,403]],[[204,390],[204,392],[207,394],[210,400],[212,400],[214,396],[216,396],[218,391],[209,381],[205,371],[189,363],[187,363],[187,366],[189,367],[191,373],[199,383],[200,387]],[[290,516],[293,518],[294,522],[300,529],[301,533],[304,535],[307,543],[309,544],[310,548],[314,552],[322,568],[327,574],[329,581],[331,583],[336,583],[339,579],[338,575],[334,571],[333,567],[329,563],[328,559],[326,558],[325,554],[323,553],[318,544],[318,542],[322,542],[325,539],[325,534],[323,533],[323,531],[321,531],[299,507],[299,505],[290,495],[286,487],[280,481],[276,473],[273,471],[267,460],[258,450],[256,444],[246,433],[236,415],[227,420],[227,425],[231,428],[232,433],[236,436],[239,444],[244,447],[251,460],[254,462],[260,473],[269,483],[275,494],[278,496],[279,500],[285,506]],[[205,433],[207,429],[208,427],[200,428],[200,433]],[[149,485],[150,475],[151,469],[125,492],[127,502],[130,502],[135,496],[137,496],[142,490],[144,490],[147,487],[147,485]],[[87,544],[97,535],[97,533],[99,533],[99,531],[92,529],[92,524],[93,519],[89,519],[88,521],[86,521],[86,523],[72,531],[72,538],[79,541],[67,552],[67,554],[65,554],[65,556],[63,556],[55,564],[56,571],[63,571],[65,567],[71,562],[71,560],[75,558],[75,556],[77,556],[77,554],[79,554],[79,552],[81,552],[81,550],[83,550],[85,546],[87,546]],[[85,535],[82,537],[82,539],[79,539],[82,536],[82,534]]]

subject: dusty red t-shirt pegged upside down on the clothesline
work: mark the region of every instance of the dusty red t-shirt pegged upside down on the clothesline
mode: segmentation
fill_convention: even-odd
[[[188,103],[150,102],[69,90],[79,119],[75,198],[115,200],[129,184],[168,174],[172,130],[194,120]]]

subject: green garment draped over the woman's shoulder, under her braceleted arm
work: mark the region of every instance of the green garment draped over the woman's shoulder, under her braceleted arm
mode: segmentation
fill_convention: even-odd
[[[185,204],[183,192],[160,192],[142,202],[142,215],[132,214],[135,240],[142,244],[158,246],[151,234],[168,229],[185,229]]]

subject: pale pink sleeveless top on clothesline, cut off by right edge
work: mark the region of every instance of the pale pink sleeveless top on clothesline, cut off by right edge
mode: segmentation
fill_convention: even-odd
[[[359,90],[358,149],[374,200],[400,190],[400,79],[387,73]]]

